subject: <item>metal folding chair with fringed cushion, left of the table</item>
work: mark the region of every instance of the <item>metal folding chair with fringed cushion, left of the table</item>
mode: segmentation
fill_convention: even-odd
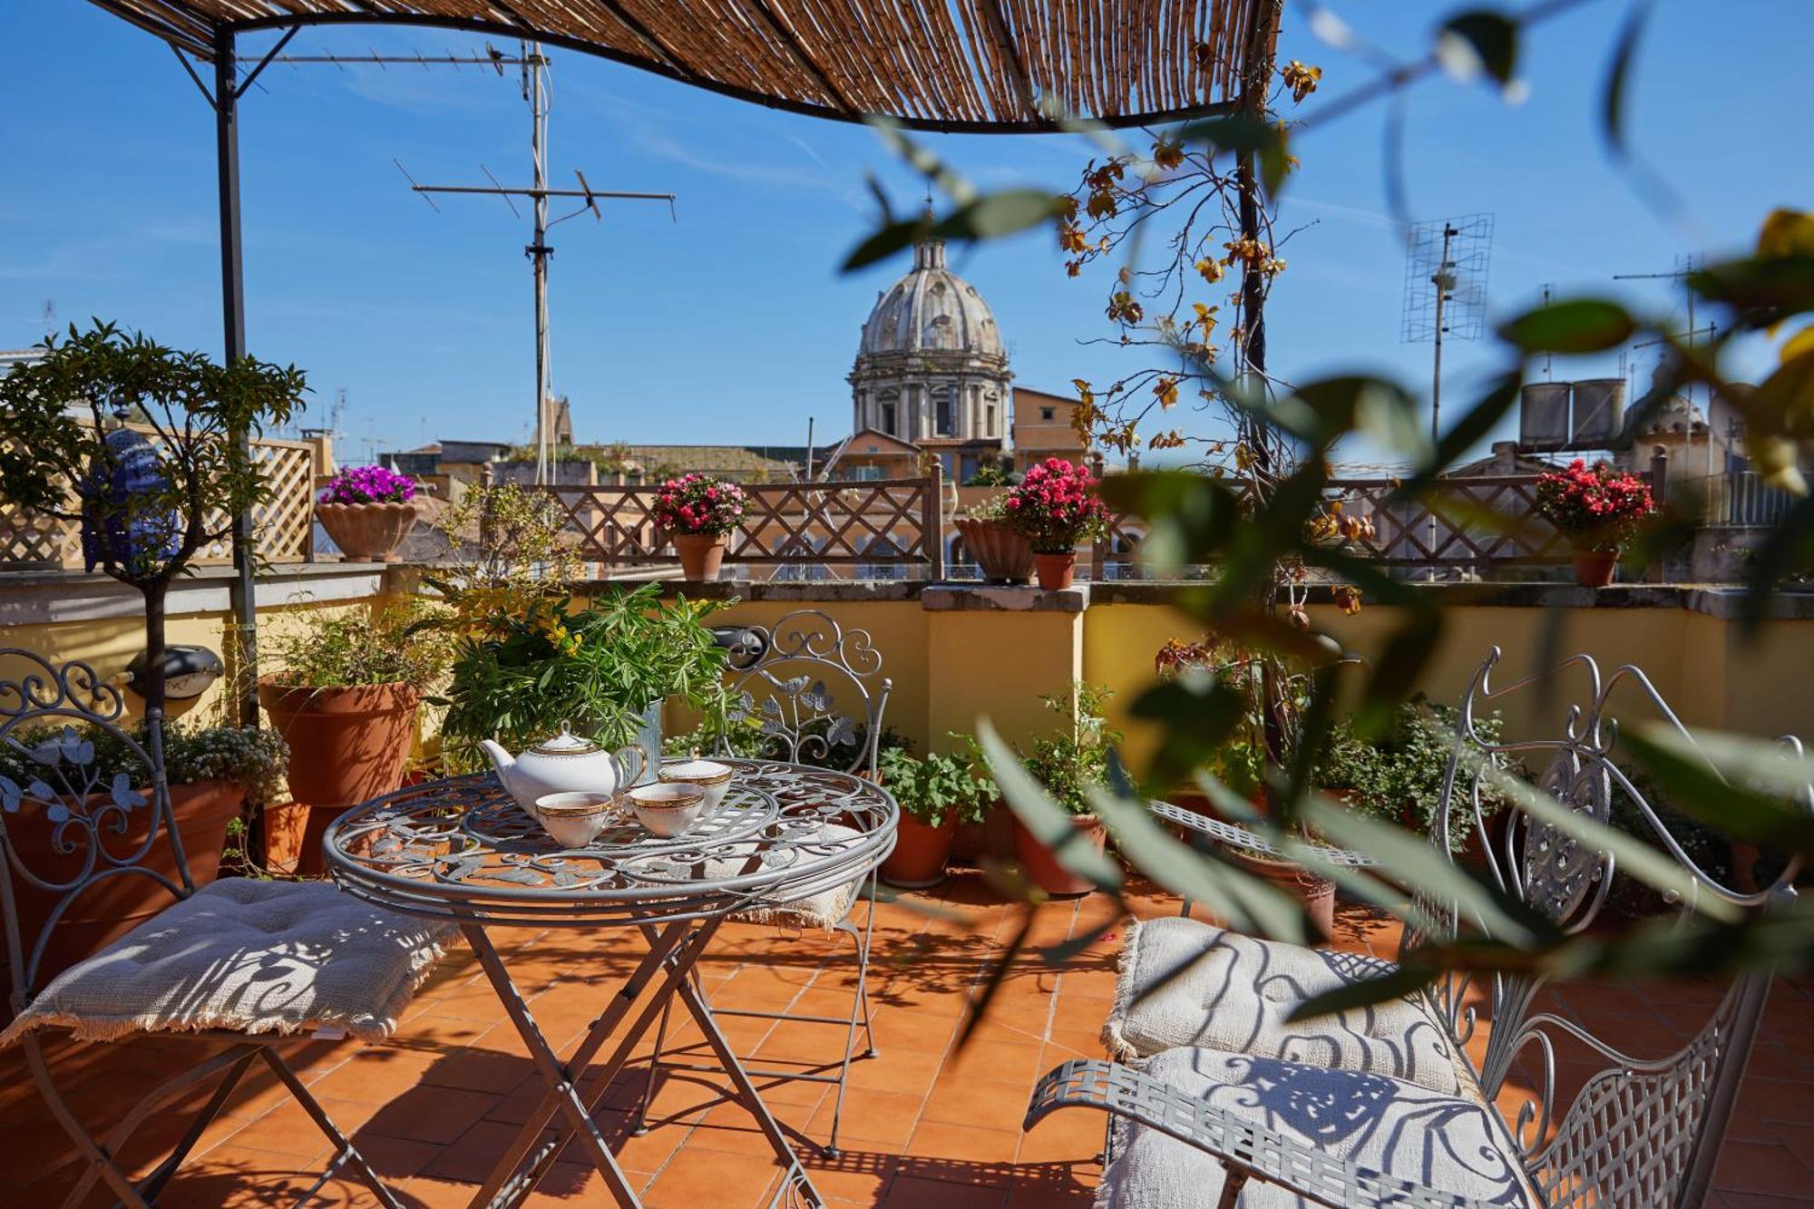
[[[0,661],[31,664],[18,681],[0,681],[0,750],[34,770],[25,784],[0,777],[0,906],[13,977],[13,1020],[0,1046],[24,1049],[45,1106],[87,1160],[62,1204],[83,1204],[96,1184],[122,1204],[154,1204],[245,1073],[261,1062],[332,1142],[328,1173],[350,1164],[383,1205],[399,1209],[278,1049],[339,1035],[386,1037],[439,955],[443,929],[365,906],[327,884],[223,879],[196,888],[171,810],[161,717],[147,719],[140,744],[120,726],[120,692],[87,664],[53,666],[22,650],[0,650]],[[127,744],[152,788],[134,790],[125,772],[96,768],[94,744],[78,726]],[[45,866],[47,853],[24,850],[7,828],[27,811],[47,811],[54,870]],[[143,835],[120,839],[134,815],[143,819]],[[176,877],[158,866],[174,868]],[[131,879],[154,882],[171,906],[38,988],[51,931],[71,908],[96,888]],[[42,906],[38,926],[36,913],[25,919],[20,909],[27,895]],[[180,1037],[198,1044],[198,1060],[98,1136],[58,1087],[44,1047],[53,1031],[78,1044],[138,1033]],[[147,1118],[210,1084],[161,1162],[138,1180],[122,1169],[116,1156]]]

